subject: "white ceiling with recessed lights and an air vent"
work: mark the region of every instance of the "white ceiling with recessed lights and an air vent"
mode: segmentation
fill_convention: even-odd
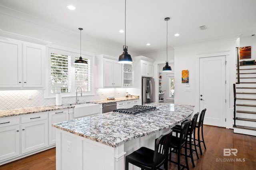
[[[68,10],[68,5],[76,10]],[[78,35],[78,28],[83,28],[86,38],[120,48],[124,45],[124,33],[119,33],[124,30],[124,5],[125,0],[0,0],[0,6],[33,17],[30,22],[47,23]],[[234,35],[251,36],[256,34],[255,7],[256,0],[126,0],[128,52],[166,49],[166,17],[171,18],[171,47]],[[200,26],[207,29],[201,30]],[[176,33],[180,36],[175,37]]]

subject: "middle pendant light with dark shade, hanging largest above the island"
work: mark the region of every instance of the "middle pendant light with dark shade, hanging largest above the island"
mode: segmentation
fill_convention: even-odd
[[[124,10],[124,52],[119,56],[118,63],[128,64],[132,63],[132,57],[128,54],[128,47],[126,46],[126,0],[125,0],[125,10]]]

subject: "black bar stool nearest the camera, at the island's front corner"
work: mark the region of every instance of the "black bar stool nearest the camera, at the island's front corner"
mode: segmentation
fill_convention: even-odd
[[[142,170],[157,170],[164,164],[165,170],[168,170],[168,154],[172,130],[160,135],[156,140],[155,150],[141,147],[125,157],[125,170],[128,170],[128,164],[134,164]],[[160,169],[161,170],[161,169]]]

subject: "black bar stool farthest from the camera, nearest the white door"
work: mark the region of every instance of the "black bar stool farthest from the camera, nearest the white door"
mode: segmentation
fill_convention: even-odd
[[[195,140],[198,141],[197,146],[199,146],[200,154],[201,154],[201,155],[203,155],[202,148],[201,148],[201,144],[200,144],[201,142],[203,142],[203,144],[204,144],[204,149],[206,149],[205,142],[204,142],[204,134],[203,134],[203,125],[204,125],[204,115],[205,115],[205,112],[206,112],[206,109],[202,110],[202,112],[201,112],[201,114],[200,114],[199,122],[196,123],[197,139],[195,139]],[[200,140],[200,127],[201,127],[202,140]]]

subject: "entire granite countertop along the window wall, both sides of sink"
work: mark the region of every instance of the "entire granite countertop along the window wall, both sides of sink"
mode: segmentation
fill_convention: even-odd
[[[126,101],[126,100],[133,100],[139,99],[139,97],[121,97],[114,100],[97,100],[97,101],[87,101],[81,103],[70,103],[70,104],[62,104],[61,106],[40,106],[40,107],[28,107],[22,109],[10,109],[10,110],[2,110],[0,111],[0,118],[2,117],[12,117],[18,115],[26,115],[31,113],[39,113],[39,112],[47,112],[47,111],[56,111],[60,109],[68,109],[73,108],[75,105],[80,105],[84,103],[95,103],[95,104],[104,104],[104,103],[111,103],[116,101]]]

